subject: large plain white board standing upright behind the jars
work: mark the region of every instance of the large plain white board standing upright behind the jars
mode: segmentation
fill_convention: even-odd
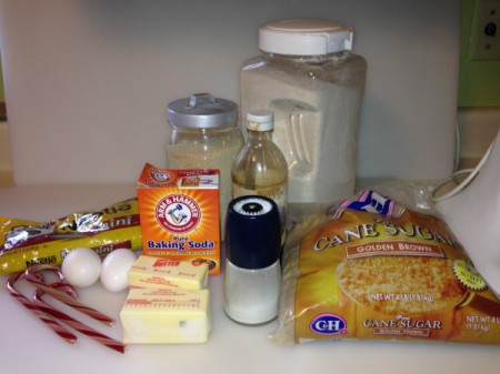
[[[1,0],[17,184],[136,181],[166,165],[164,107],[239,102],[239,68],[270,20],[356,28],[369,63],[359,175],[440,178],[454,156],[460,1]]]

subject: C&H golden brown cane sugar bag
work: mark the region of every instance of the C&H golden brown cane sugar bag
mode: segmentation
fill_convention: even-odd
[[[292,230],[274,342],[500,343],[500,301],[449,228],[390,213],[338,208]]]

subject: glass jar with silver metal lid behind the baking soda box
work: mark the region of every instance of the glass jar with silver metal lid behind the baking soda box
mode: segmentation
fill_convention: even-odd
[[[196,93],[169,103],[170,169],[219,169],[221,229],[231,201],[231,168],[243,145],[238,105],[210,93]]]

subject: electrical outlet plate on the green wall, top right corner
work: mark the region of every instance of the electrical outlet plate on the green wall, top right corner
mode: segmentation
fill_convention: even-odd
[[[471,60],[500,60],[500,0],[477,0],[471,41]]]

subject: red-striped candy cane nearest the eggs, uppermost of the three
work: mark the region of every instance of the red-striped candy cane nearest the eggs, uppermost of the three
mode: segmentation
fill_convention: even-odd
[[[109,326],[112,326],[114,324],[114,320],[112,317],[110,317],[99,311],[96,311],[94,309],[92,309],[90,306],[87,306],[87,305],[78,302],[77,300],[66,295],[62,292],[59,292],[54,287],[46,284],[43,282],[43,279],[41,279],[38,274],[36,274],[36,273],[47,271],[47,270],[52,271],[52,272],[58,272],[59,267],[56,267],[52,265],[44,265],[44,264],[33,265],[26,271],[24,279],[28,282],[30,282],[33,286],[36,286],[38,290],[44,291],[46,293],[50,294],[52,297],[76,309],[77,311],[79,311],[99,322],[102,322]]]

